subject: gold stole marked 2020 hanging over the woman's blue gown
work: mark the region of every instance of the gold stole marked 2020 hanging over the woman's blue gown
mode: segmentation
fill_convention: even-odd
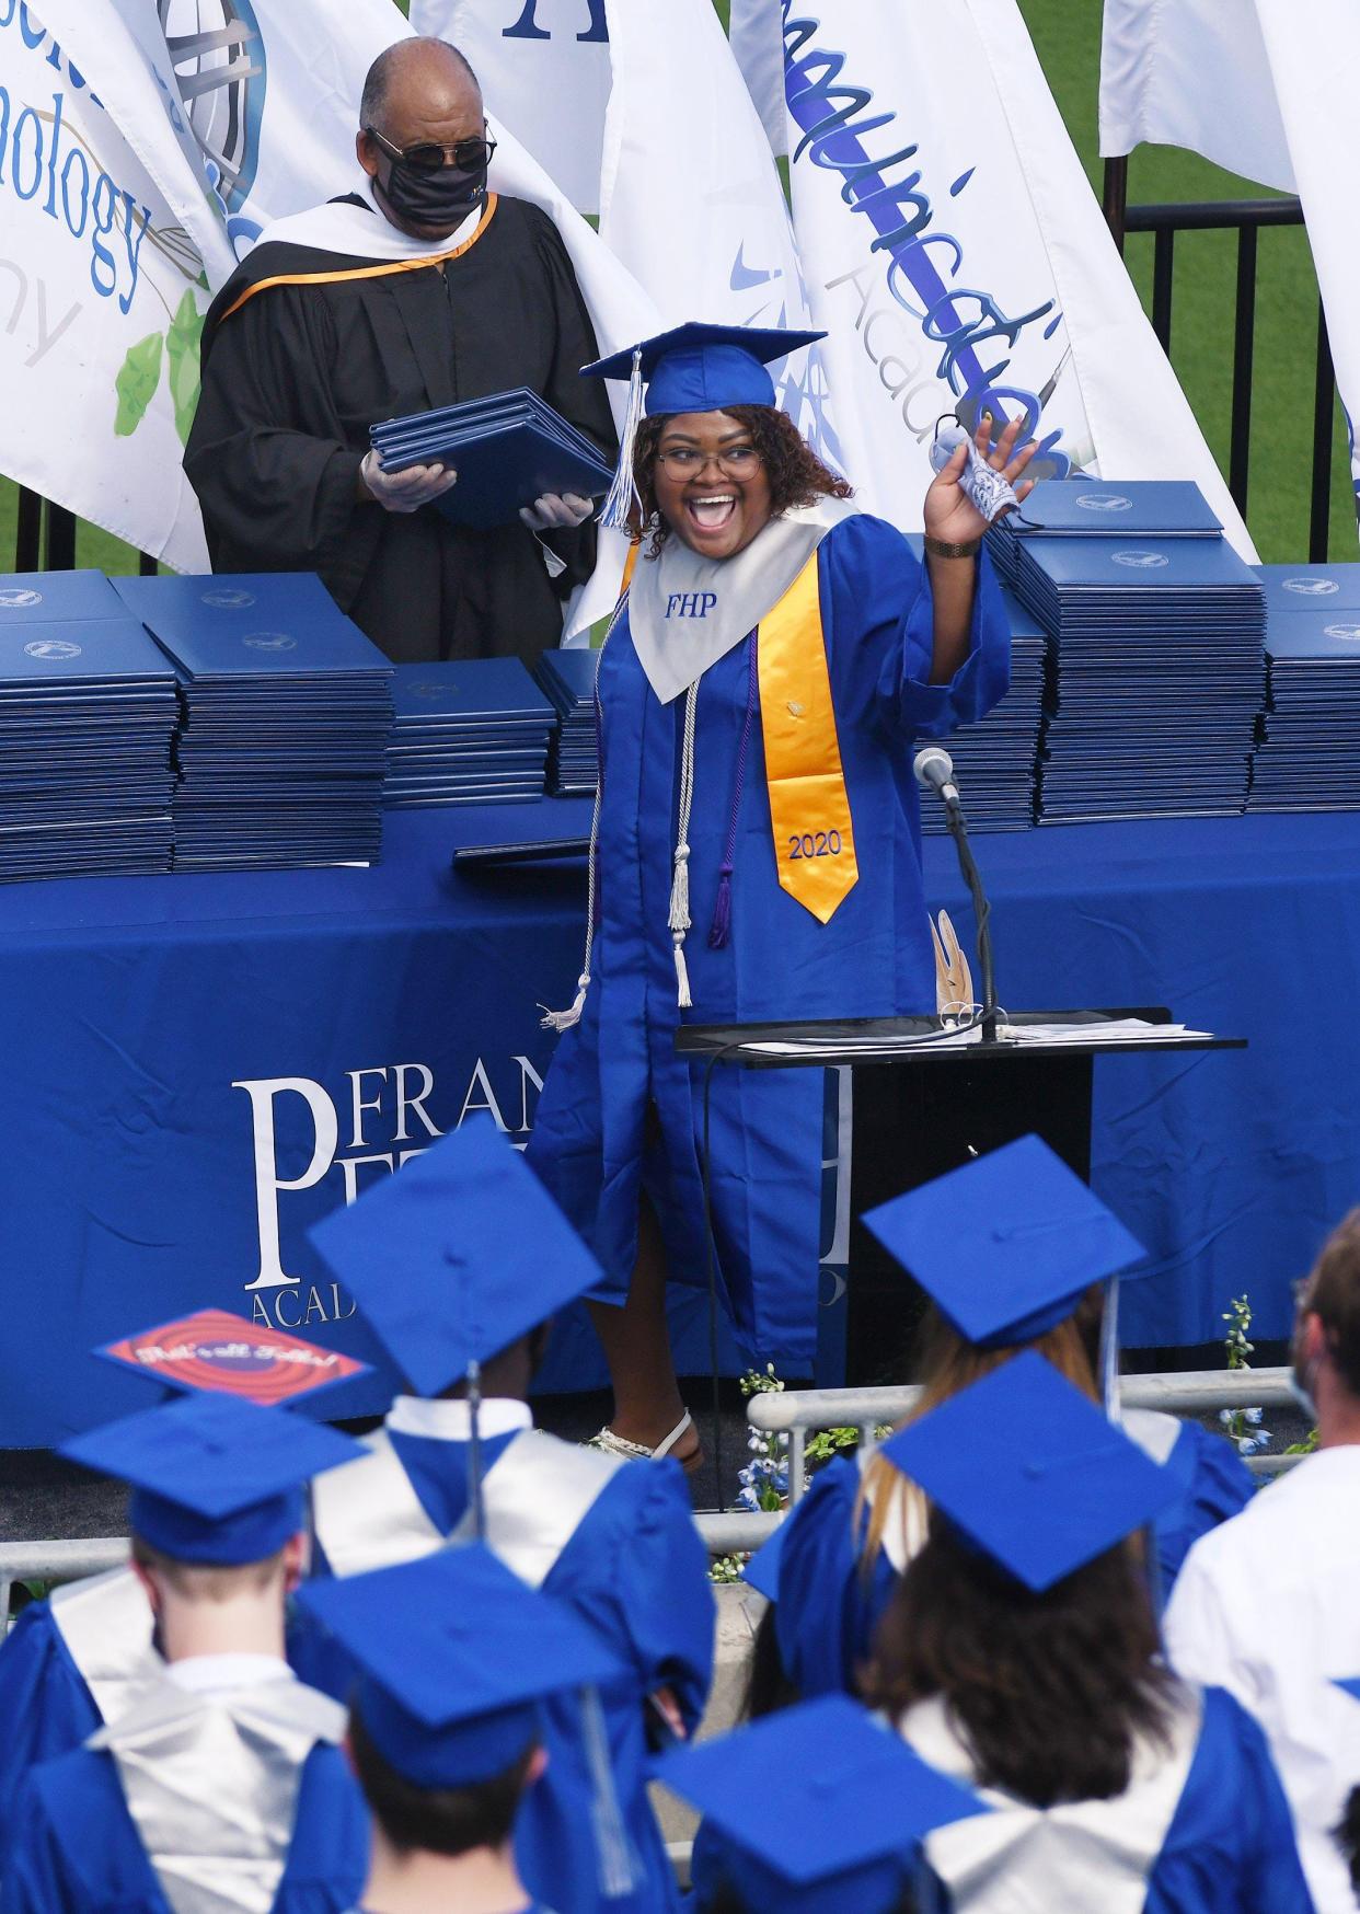
[[[756,647],[779,882],[824,924],[855,888],[859,863],[826,670],[817,553],[761,618]]]

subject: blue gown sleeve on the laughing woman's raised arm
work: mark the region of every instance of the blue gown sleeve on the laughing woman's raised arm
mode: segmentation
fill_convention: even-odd
[[[889,735],[943,737],[977,723],[1010,687],[1010,624],[991,559],[977,561],[968,655],[932,685],[935,601],[930,572],[891,524],[842,521],[823,540],[823,624],[830,628],[836,714]]]

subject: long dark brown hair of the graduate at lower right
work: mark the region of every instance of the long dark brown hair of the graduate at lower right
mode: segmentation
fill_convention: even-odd
[[[1134,1740],[1165,1744],[1176,1684],[1132,1543],[1033,1594],[935,1520],[874,1638],[870,1707],[941,1696],[976,1782],[1052,1807],[1109,1801]]]

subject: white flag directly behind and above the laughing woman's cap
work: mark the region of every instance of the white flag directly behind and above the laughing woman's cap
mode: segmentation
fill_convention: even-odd
[[[807,329],[807,293],[769,140],[712,0],[608,0],[614,88],[604,122],[601,239],[650,295],[660,325]],[[683,113],[658,113],[685,73]],[[819,348],[777,373],[779,404],[840,465]]]

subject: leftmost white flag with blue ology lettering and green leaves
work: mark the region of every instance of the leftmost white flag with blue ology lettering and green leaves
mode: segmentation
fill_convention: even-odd
[[[77,57],[63,29],[0,8],[0,465],[117,538],[203,570],[180,471],[210,297],[182,218],[201,186],[168,128],[163,165],[147,167],[145,144],[124,138],[98,94],[98,59]],[[84,38],[115,29],[99,19],[90,34],[86,21]],[[149,144],[159,107],[157,121]]]

